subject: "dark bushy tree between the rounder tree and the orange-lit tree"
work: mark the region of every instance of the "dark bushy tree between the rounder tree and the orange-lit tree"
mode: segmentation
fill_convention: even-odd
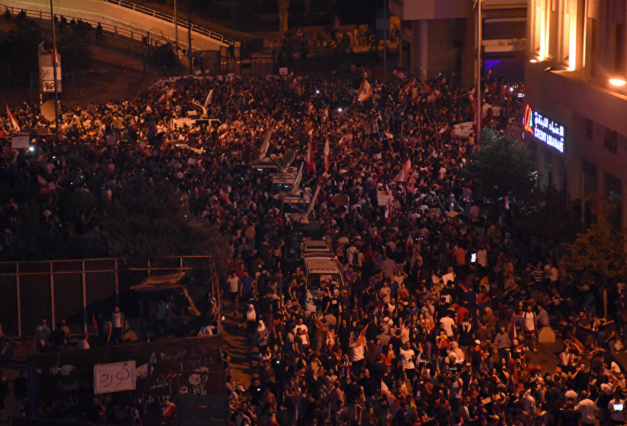
[[[523,238],[535,237],[554,243],[570,243],[580,229],[568,194],[553,186],[532,193],[516,226]]]

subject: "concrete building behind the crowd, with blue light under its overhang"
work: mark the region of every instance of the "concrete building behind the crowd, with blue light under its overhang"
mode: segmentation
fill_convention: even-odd
[[[484,73],[502,71],[522,80],[525,68],[527,1],[482,0]],[[399,65],[420,79],[458,73],[472,86],[477,67],[477,2],[389,0],[401,20]]]

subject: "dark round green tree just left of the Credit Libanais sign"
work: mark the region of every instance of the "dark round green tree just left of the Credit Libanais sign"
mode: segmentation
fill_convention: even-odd
[[[467,162],[463,176],[472,179],[493,201],[506,195],[527,197],[538,179],[527,148],[489,128],[481,130],[479,144],[481,152]]]

